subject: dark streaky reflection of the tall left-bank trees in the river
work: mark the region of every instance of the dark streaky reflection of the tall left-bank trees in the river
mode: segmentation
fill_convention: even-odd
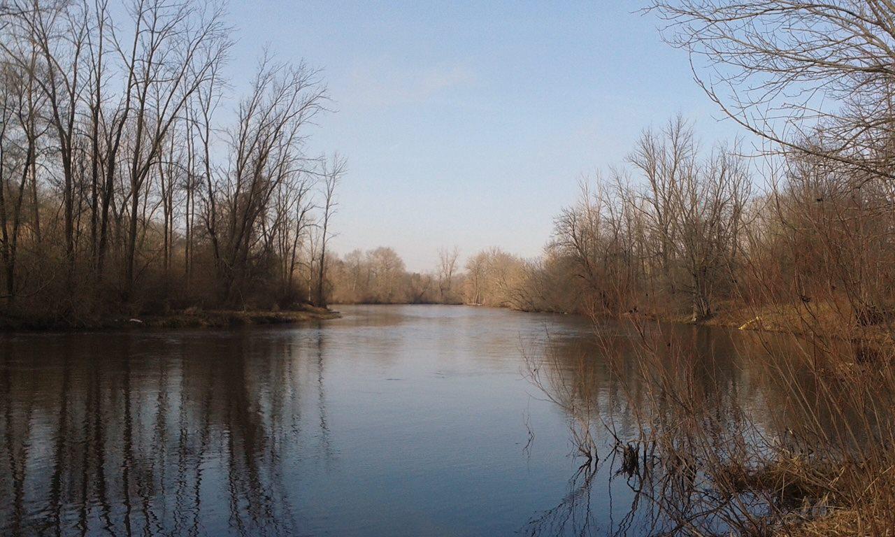
[[[313,359],[238,333],[47,337],[31,367],[34,341],[0,344],[4,534],[300,533],[284,460],[315,437],[331,456],[322,335]]]

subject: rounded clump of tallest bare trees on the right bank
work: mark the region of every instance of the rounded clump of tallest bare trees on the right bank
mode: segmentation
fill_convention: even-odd
[[[644,131],[624,166],[583,184],[556,218],[544,278],[562,281],[571,269],[589,312],[711,318],[748,280],[747,256],[761,247],[749,238],[766,236],[753,218],[763,198],[740,155],[701,151],[679,116]]]

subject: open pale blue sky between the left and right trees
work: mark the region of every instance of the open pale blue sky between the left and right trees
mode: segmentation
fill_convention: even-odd
[[[231,0],[229,69],[248,79],[268,47],[322,70],[333,111],[307,149],[348,161],[334,251],[390,246],[414,271],[455,245],[533,258],[581,178],[644,128],[680,113],[706,144],[739,132],[640,7]]]

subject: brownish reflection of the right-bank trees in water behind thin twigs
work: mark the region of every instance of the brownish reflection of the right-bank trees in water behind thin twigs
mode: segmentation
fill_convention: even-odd
[[[867,388],[879,400],[873,404],[841,394],[841,381],[794,358],[811,348],[801,338],[637,328],[643,331],[598,328],[589,348],[549,340],[527,356],[530,380],[567,413],[573,455],[584,465],[558,506],[534,518],[526,533],[764,534],[768,520],[778,527],[797,520],[793,501],[814,500],[814,492],[763,485],[754,476],[771,479],[762,476],[781,460],[859,452],[861,439],[890,435],[891,426],[878,419],[889,415],[887,385]],[[611,502],[620,478],[633,493],[630,510],[615,522],[610,507],[609,527],[599,527],[606,517],[594,515],[594,488],[609,482]]]

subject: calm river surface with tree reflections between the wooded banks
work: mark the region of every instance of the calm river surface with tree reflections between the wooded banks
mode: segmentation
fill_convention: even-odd
[[[0,534],[686,534],[780,508],[718,494],[726,462],[811,456],[802,430],[847,433],[888,400],[827,405],[840,388],[775,372],[792,342],[736,331],[663,328],[644,354],[625,324],[593,341],[558,316],[355,311],[0,338]],[[520,337],[541,341],[524,369],[546,397],[519,379]]]

